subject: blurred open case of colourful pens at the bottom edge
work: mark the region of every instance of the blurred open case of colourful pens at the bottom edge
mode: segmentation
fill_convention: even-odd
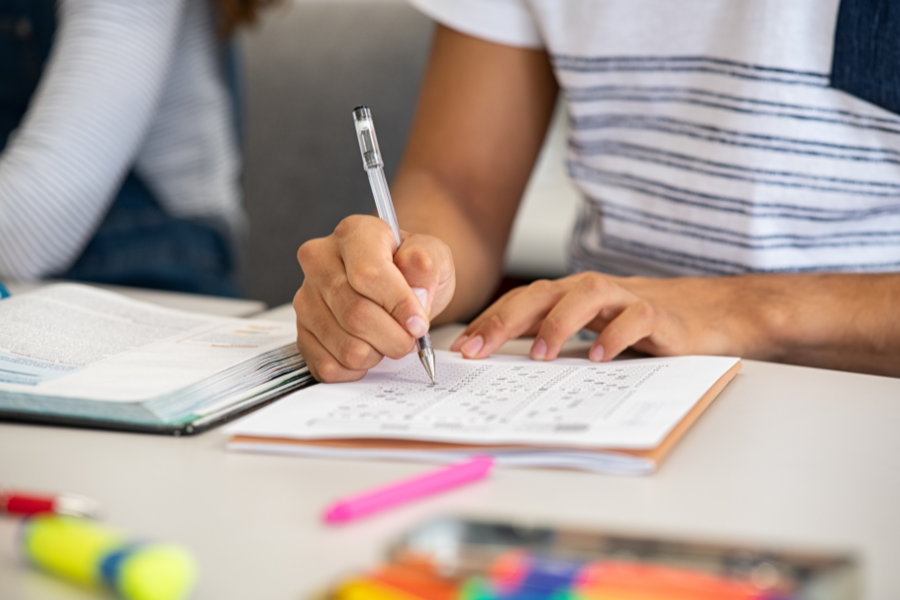
[[[846,553],[447,518],[330,600],[858,600]]]

